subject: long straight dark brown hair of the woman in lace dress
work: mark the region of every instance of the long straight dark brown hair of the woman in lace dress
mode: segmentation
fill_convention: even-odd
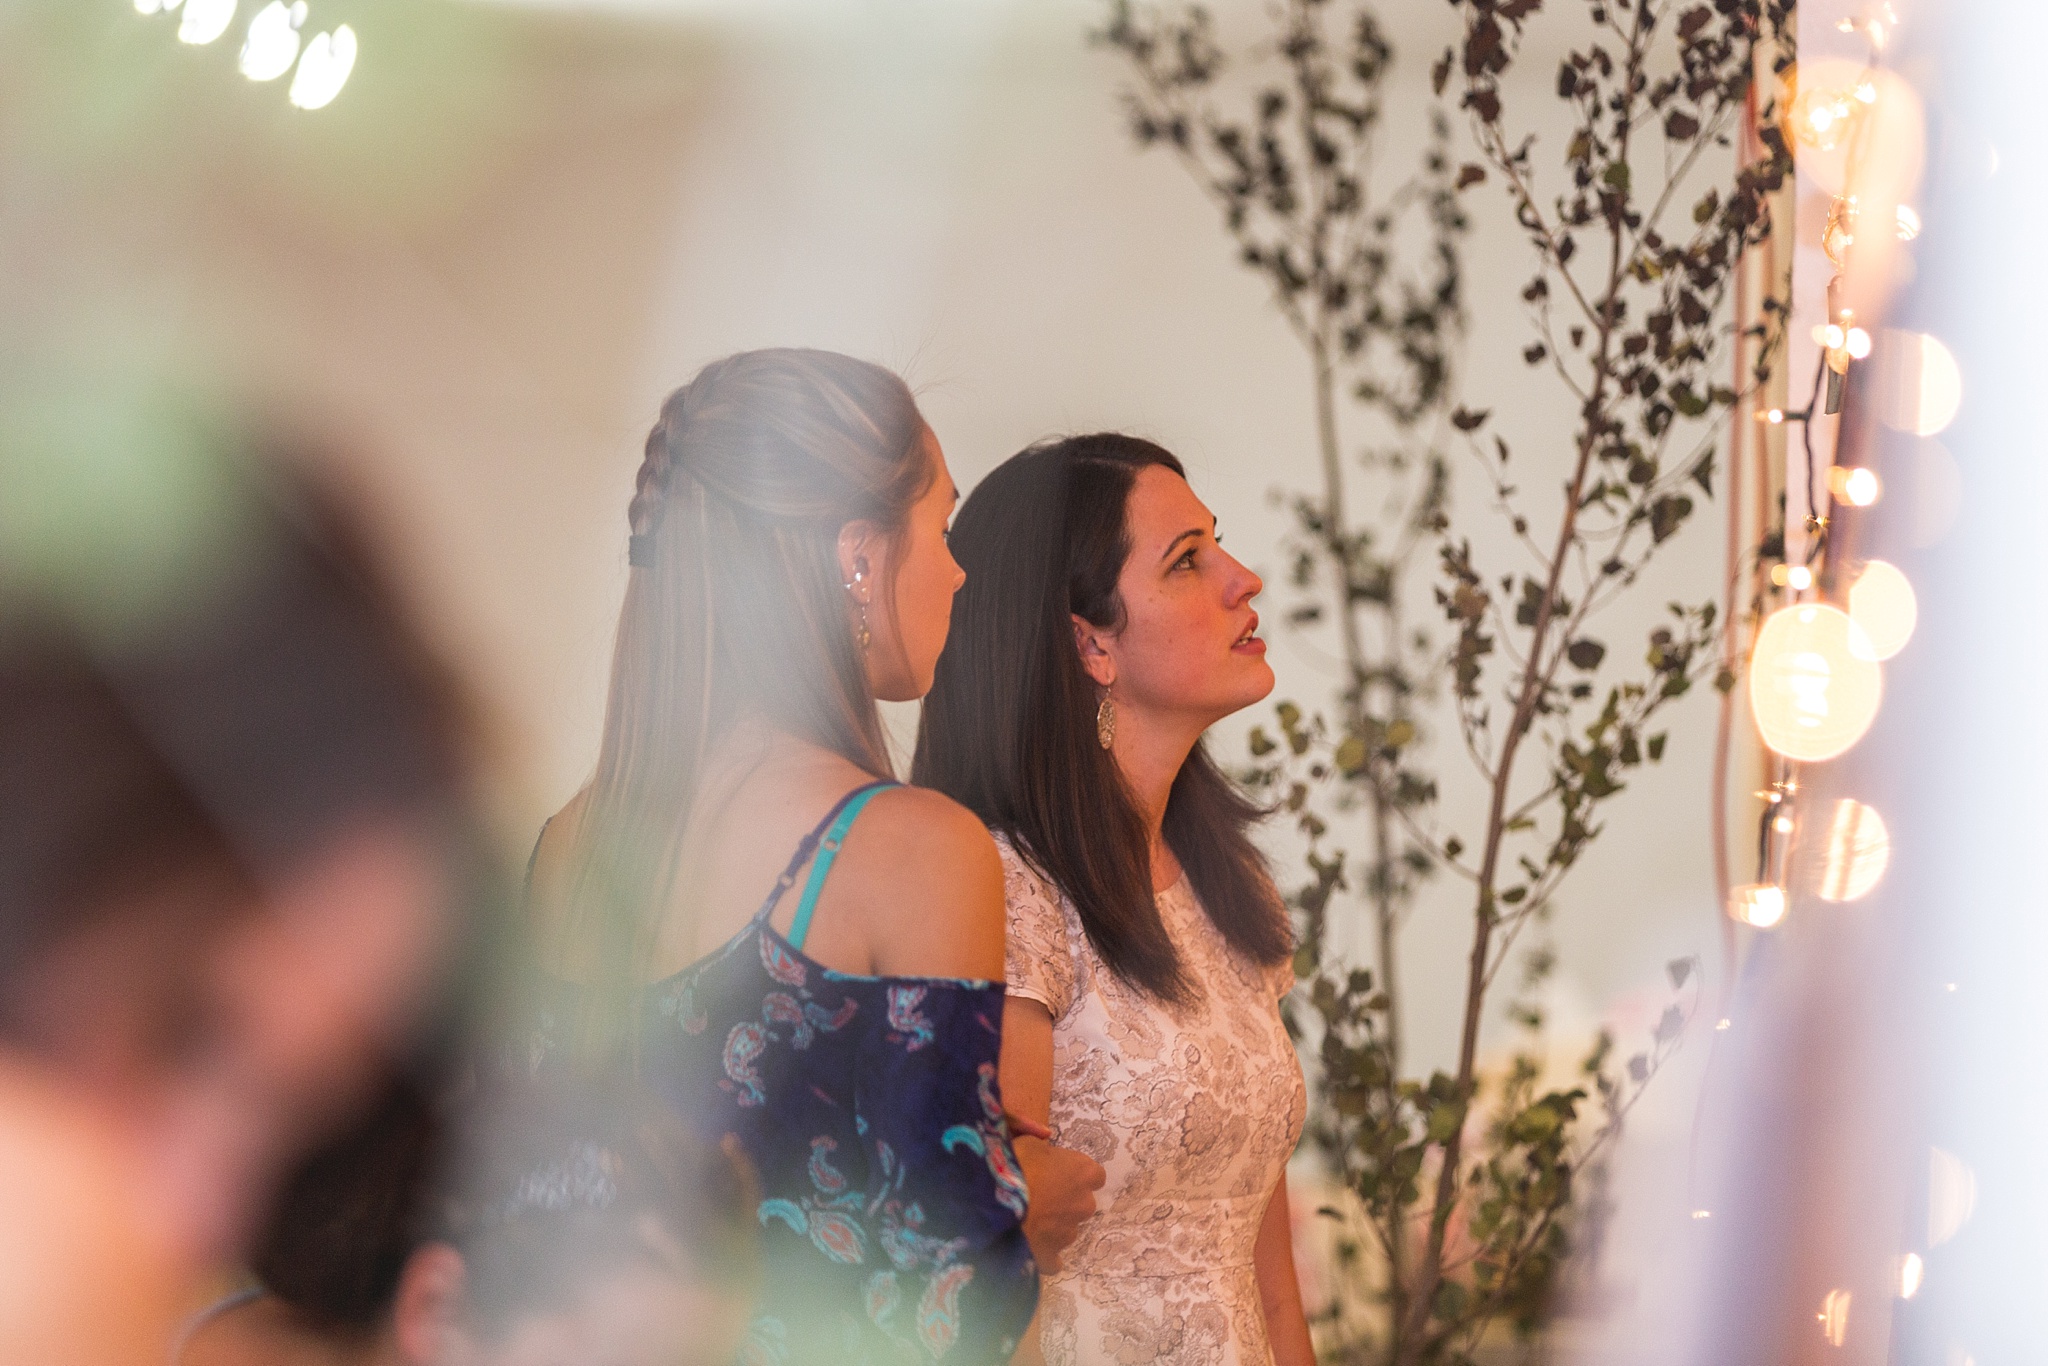
[[[1073,616],[1124,625],[1124,512],[1149,465],[1186,477],[1149,440],[1069,436],[1010,457],[961,506],[952,555],[967,586],[952,600],[911,778],[1008,836],[1073,901],[1110,971],[1186,1001],[1192,983],[1153,901],[1145,817],[1096,739],[1098,692],[1073,645]],[[1292,936],[1247,834],[1262,815],[1196,743],[1163,834],[1223,938],[1272,965],[1292,952]]]

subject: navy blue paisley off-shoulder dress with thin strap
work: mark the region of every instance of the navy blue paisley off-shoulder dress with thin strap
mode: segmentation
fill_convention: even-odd
[[[1038,1303],[995,1083],[1004,983],[803,954],[840,840],[889,786],[848,793],[739,934],[645,993],[647,1087],[705,1141],[737,1135],[760,1176],[766,1276],[741,1366],[1006,1362]],[[557,1032],[543,1020],[535,1063]]]

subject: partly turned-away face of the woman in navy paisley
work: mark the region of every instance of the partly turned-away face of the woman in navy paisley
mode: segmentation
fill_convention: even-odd
[[[932,690],[932,674],[952,629],[952,596],[967,582],[967,571],[946,547],[946,524],[961,492],[930,428],[924,440],[932,485],[911,504],[903,535],[891,549],[895,563],[881,567],[877,604],[883,610],[868,608],[868,684],[885,702],[913,702]],[[887,604],[883,592],[889,594]]]

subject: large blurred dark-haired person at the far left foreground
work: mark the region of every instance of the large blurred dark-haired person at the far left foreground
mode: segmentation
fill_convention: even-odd
[[[451,692],[332,504],[197,410],[0,399],[0,1360],[162,1362],[403,1047]]]

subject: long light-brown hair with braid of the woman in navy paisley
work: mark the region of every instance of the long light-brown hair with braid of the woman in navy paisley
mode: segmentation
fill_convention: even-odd
[[[743,715],[891,774],[838,539],[854,520],[905,528],[936,473],[924,438],[897,375],[827,350],[739,352],[662,403],[569,860],[563,928],[596,948],[600,987],[586,1047],[631,1049],[705,762]]]

